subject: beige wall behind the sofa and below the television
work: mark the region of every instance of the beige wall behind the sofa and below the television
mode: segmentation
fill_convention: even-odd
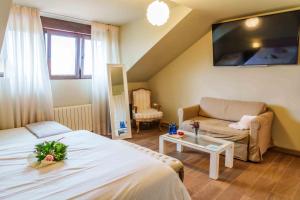
[[[300,150],[300,66],[213,67],[211,32],[149,80],[167,121],[201,97],[264,101],[275,112],[276,146]]]

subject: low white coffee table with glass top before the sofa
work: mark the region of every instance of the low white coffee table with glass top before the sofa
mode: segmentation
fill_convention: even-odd
[[[176,144],[176,149],[178,152],[182,152],[183,146],[185,146],[195,150],[209,153],[209,177],[212,179],[218,179],[219,177],[219,157],[222,152],[225,152],[225,167],[233,167],[233,142],[203,135],[201,134],[201,131],[199,132],[197,137],[195,133],[187,131],[183,132],[184,137],[182,138],[174,138],[168,133],[161,135],[159,137],[159,152],[164,153],[164,143],[165,141],[168,141]]]

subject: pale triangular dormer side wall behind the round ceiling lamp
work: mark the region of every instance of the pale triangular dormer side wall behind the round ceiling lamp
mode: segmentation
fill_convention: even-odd
[[[184,6],[171,6],[170,19],[163,26],[152,26],[146,17],[121,27],[121,60],[130,69],[150,48],[167,34],[189,12]],[[145,39],[147,38],[147,39]]]

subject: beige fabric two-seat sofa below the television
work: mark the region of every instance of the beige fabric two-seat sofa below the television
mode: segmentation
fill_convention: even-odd
[[[257,116],[251,121],[250,130],[228,127],[243,115]],[[205,97],[200,105],[178,110],[180,129],[192,131],[192,121],[200,123],[206,135],[223,138],[235,143],[234,156],[241,160],[262,161],[262,155],[271,146],[273,112],[265,103],[235,101]]]

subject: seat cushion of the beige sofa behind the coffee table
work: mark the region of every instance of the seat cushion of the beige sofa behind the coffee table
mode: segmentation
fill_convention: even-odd
[[[194,132],[191,124],[192,121],[198,121],[200,124],[200,130],[209,132],[208,135],[216,138],[222,138],[230,141],[245,141],[245,138],[249,136],[249,130],[237,130],[228,127],[230,121],[224,121],[219,119],[207,118],[207,117],[195,117],[191,120],[186,120],[182,123],[180,129],[185,131]]]

